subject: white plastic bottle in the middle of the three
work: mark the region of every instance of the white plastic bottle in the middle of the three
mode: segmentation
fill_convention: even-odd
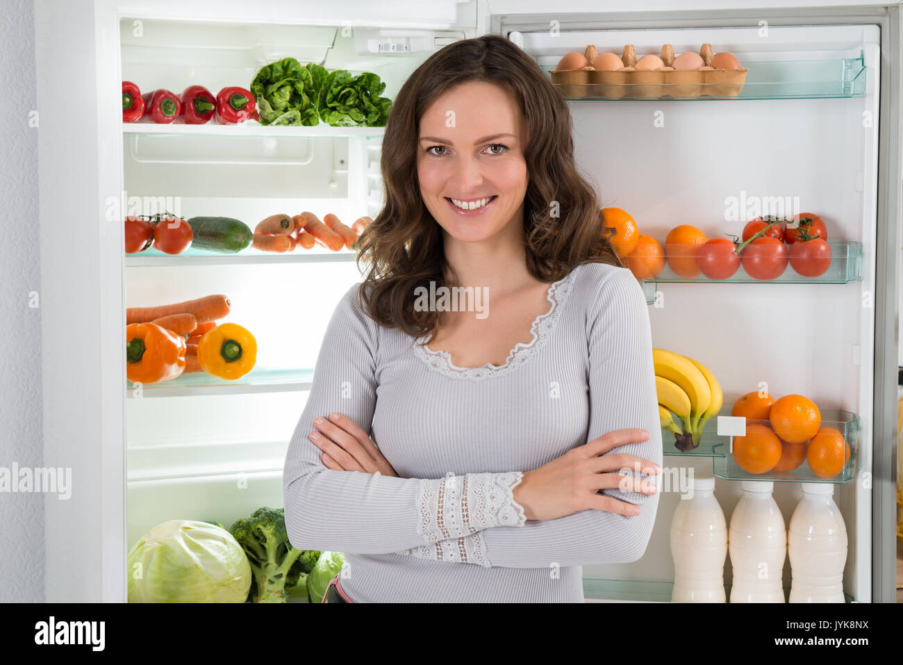
[[[743,496],[731,515],[728,551],[731,603],[784,603],[787,530],[771,496],[775,483],[743,481]]]

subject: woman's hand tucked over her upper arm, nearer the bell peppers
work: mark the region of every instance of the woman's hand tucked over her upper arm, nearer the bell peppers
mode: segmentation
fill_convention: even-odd
[[[323,451],[321,460],[328,469],[398,476],[367,432],[350,418],[334,413],[329,420],[314,418],[313,426],[319,431],[311,433],[311,441]]]

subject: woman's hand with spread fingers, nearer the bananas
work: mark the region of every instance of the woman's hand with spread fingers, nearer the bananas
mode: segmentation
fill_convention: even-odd
[[[527,520],[554,520],[578,510],[608,510],[638,515],[639,506],[598,493],[619,488],[625,492],[655,494],[654,481],[641,481],[619,469],[661,473],[654,462],[632,454],[604,454],[619,445],[646,441],[645,429],[618,429],[580,445],[549,464],[524,473],[514,488],[514,500]]]

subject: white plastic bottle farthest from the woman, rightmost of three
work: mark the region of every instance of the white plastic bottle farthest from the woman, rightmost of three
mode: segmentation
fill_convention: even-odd
[[[787,553],[791,603],[843,603],[847,534],[831,482],[803,482],[803,501],[790,518]]]

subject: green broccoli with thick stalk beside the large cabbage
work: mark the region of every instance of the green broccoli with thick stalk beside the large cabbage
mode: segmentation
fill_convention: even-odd
[[[284,603],[288,590],[304,585],[320,552],[296,549],[288,541],[282,508],[258,508],[229,529],[245,550],[253,581],[247,599],[253,603]]]

